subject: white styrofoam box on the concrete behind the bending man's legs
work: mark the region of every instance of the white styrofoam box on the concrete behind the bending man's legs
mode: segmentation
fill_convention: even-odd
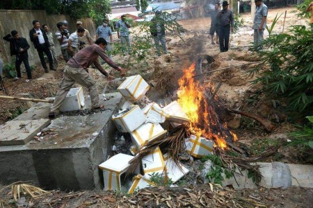
[[[83,88],[72,88],[67,95],[60,107],[61,112],[68,112],[74,110],[81,110],[81,107],[85,105],[85,98],[83,97]]]

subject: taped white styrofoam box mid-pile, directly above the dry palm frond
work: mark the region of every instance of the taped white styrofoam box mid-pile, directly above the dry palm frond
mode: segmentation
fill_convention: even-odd
[[[137,149],[141,149],[148,141],[165,137],[166,132],[159,123],[144,123],[131,132],[131,141]]]

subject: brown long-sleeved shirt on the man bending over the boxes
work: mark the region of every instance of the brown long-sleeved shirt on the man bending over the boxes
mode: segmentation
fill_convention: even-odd
[[[87,69],[91,64],[95,64],[95,67],[100,71],[105,71],[101,64],[98,62],[99,56],[107,63],[109,66],[113,67],[114,69],[119,69],[118,65],[115,64],[108,55],[106,55],[104,49],[102,49],[97,44],[92,44],[91,46],[87,46],[84,49],[81,49],[78,53],[74,55],[67,62],[67,66],[73,68],[83,68]],[[105,76],[108,76],[109,73],[105,72]]]

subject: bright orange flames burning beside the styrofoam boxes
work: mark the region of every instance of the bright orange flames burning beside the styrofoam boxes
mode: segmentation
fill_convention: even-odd
[[[184,69],[184,76],[179,79],[178,103],[191,119],[190,131],[193,135],[201,135],[214,140],[222,150],[227,148],[225,139],[236,135],[227,129],[227,125],[220,123],[218,116],[211,105],[207,103],[204,92],[211,90],[212,85],[201,85],[193,78],[195,76],[195,64]]]

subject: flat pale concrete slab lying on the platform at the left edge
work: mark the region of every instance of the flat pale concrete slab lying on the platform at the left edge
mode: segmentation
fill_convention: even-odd
[[[49,119],[8,121],[0,126],[0,146],[26,144],[49,123]]]

